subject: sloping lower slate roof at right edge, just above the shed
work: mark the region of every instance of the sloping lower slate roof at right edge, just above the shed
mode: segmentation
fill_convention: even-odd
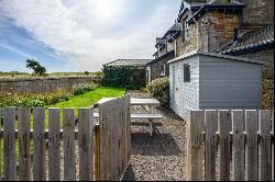
[[[274,25],[267,25],[241,34],[237,42],[227,43],[218,48],[216,53],[240,55],[272,47],[274,47]]]

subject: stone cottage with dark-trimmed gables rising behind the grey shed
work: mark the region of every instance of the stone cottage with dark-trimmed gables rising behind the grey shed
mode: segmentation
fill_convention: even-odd
[[[198,50],[254,58],[264,64],[263,77],[274,78],[274,0],[183,0],[177,26],[168,42],[175,57]],[[167,54],[163,45],[160,39],[152,61],[157,68],[173,59],[160,58]]]

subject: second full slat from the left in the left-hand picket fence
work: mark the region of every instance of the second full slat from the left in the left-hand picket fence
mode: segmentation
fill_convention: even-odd
[[[19,125],[19,180],[31,180],[31,110],[18,109]]]

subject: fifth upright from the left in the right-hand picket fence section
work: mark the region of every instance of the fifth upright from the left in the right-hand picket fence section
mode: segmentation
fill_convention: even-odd
[[[245,180],[257,181],[257,111],[245,111]]]

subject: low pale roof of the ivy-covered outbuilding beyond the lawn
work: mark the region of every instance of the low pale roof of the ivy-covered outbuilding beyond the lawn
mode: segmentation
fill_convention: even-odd
[[[152,59],[118,59],[103,66],[139,66],[145,67]]]

